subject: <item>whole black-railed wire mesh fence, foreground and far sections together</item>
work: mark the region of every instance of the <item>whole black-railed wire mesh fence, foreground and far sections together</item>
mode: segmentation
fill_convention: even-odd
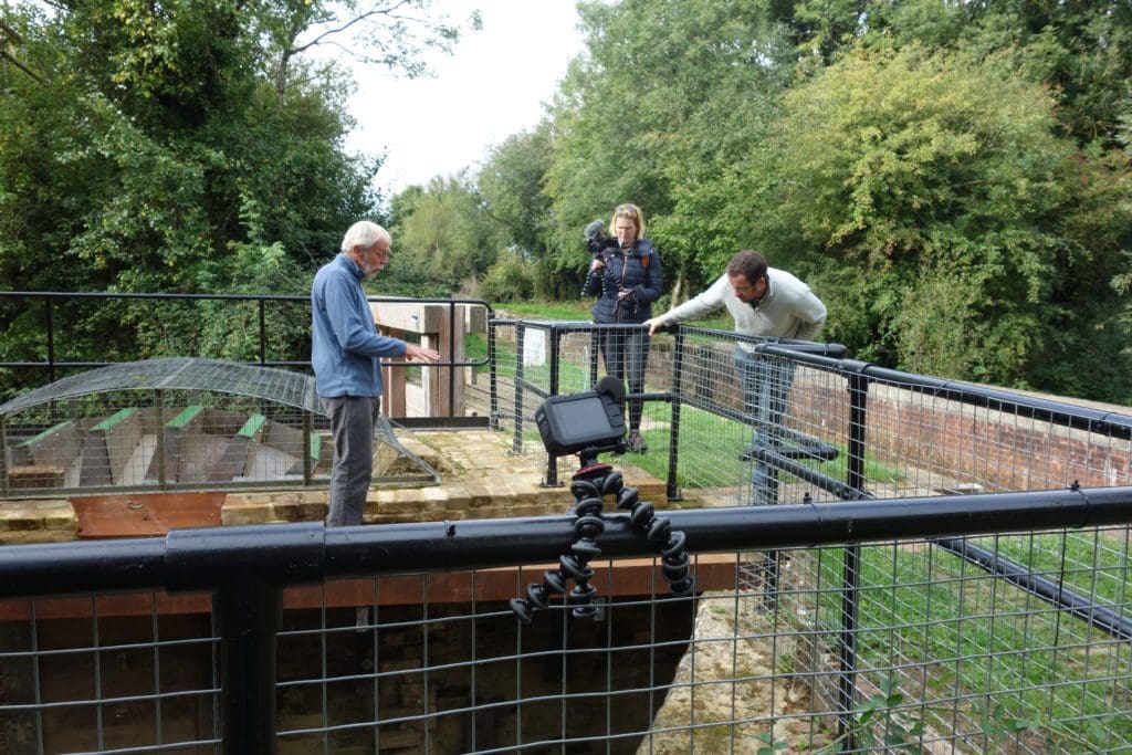
[[[599,329],[492,324],[491,419],[515,453],[542,453],[546,395],[604,372]],[[555,595],[530,624],[508,601],[577,517],[6,547],[0,744],[1132,750],[1132,418],[695,327],[653,338],[633,393],[648,448],[609,461],[678,494],[663,513],[694,597],[611,501],[600,610]],[[548,460],[547,484],[572,462]],[[155,608],[127,615],[121,590]]]

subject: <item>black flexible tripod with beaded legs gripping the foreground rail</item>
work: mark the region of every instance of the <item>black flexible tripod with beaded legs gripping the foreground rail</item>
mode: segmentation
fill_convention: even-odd
[[[672,594],[685,598],[695,590],[695,577],[688,573],[691,558],[684,548],[687,541],[684,532],[674,531],[668,517],[657,516],[652,504],[640,500],[637,489],[626,487],[620,472],[609,464],[599,463],[598,451],[586,448],[578,454],[581,469],[574,473],[569,486],[574,495],[569,513],[576,516],[574,532],[577,538],[559,557],[557,569],[543,572],[541,584],[532,582],[526,585],[526,598],[511,599],[511,609],[524,624],[531,623],[534,609],[549,608],[552,595],[565,595],[569,580],[575,582],[574,589],[569,591],[571,600],[574,601],[571,612],[577,618],[598,614],[598,607],[592,604],[598,589],[590,584],[593,567],[589,561],[601,554],[597,539],[606,530],[606,523],[601,518],[602,499],[606,496],[616,497],[617,508],[629,513],[633,526],[657,543],[661,574]]]

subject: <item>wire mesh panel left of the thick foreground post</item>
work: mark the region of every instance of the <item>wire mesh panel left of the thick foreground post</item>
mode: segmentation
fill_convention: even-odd
[[[0,749],[218,752],[207,594],[0,601]]]

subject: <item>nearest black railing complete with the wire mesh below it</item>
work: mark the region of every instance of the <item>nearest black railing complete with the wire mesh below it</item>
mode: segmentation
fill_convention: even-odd
[[[591,561],[602,610],[581,619],[555,600],[530,624],[505,601],[569,539],[568,518],[0,549],[0,743],[12,753],[1127,752],[1132,488],[938,500],[671,512],[697,543],[704,591],[689,598],[658,590],[650,543],[624,514],[606,515],[599,540],[619,558]],[[995,568],[937,547],[977,531],[1000,532],[961,540],[994,546]],[[1070,551],[1090,540],[1086,567]],[[1050,543],[1062,559],[1045,557]],[[752,549],[780,554],[773,601],[740,577]],[[1007,554],[1020,567],[1009,576]],[[1041,580],[1073,603],[1027,584]],[[123,615],[109,594],[35,597],[52,584],[157,592],[152,608]]]

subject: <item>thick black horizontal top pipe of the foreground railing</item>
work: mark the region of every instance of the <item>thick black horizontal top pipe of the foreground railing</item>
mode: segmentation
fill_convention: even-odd
[[[569,505],[563,497],[563,507]],[[666,512],[689,552],[806,548],[908,538],[1127,524],[1132,487],[1080,488]],[[602,556],[652,556],[625,514],[604,515]],[[321,522],[174,530],[153,538],[6,546],[0,595],[191,590],[251,572],[273,584],[329,577],[546,564],[571,516],[324,529]]]

